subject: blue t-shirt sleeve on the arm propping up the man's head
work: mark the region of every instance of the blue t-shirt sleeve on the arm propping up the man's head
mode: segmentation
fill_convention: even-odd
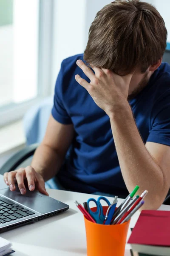
[[[170,146],[170,92],[153,107],[147,141]]]

